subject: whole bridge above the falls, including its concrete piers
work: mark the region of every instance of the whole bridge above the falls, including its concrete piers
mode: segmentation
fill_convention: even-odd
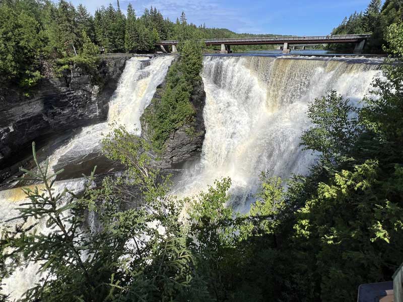
[[[206,46],[221,45],[221,53],[231,52],[231,45],[262,45],[262,44],[280,44],[283,45],[284,53],[290,52],[290,46],[294,45],[311,45],[311,44],[329,44],[329,43],[355,43],[354,53],[361,53],[365,41],[371,37],[371,34],[361,35],[327,35],[327,36],[291,36],[291,37],[255,37],[255,38],[234,38],[234,39],[205,39],[203,41]],[[159,41],[163,51],[164,46],[172,46],[172,52],[176,52],[178,40]]]

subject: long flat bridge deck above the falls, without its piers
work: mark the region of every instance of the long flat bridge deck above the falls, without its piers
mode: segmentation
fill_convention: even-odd
[[[303,37],[256,37],[234,39],[205,39],[201,40],[206,45],[251,45],[251,44],[321,44],[321,43],[355,43],[371,37],[370,34],[362,35],[328,35],[328,36],[303,36]],[[159,41],[157,45],[176,45],[178,40]]]

